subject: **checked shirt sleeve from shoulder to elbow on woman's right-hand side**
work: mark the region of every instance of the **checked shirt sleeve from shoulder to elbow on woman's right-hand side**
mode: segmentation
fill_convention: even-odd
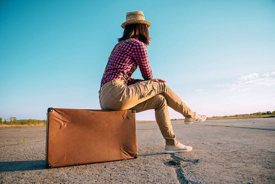
[[[148,54],[144,43],[136,43],[133,49],[133,59],[137,62],[137,65],[140,68],[141,75],[145,81],[153,78],[152,69],[148,61]]]

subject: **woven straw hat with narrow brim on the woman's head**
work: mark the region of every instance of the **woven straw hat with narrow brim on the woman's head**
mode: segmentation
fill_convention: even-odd
[[[126,13],[126,22],[122,23],[121,27],[125,29],[125,27],[129,24],[146,24],[148,25],[148,28],[151,26],[151,23],[145,20],[142,11]]]

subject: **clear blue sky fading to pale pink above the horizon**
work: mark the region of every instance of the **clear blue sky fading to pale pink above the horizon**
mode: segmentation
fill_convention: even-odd
[[[126,13],[138,10],[151,22],[154,78],[191,109],[207,116],[275,110],[275,1],[36,0],[0,2],[0,117],[100,109],[107,58]],[[154,112],[137,119],[154,120]]]

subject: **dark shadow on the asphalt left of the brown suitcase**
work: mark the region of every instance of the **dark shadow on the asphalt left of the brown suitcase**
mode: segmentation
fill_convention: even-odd
[[[46,169],[45,160],[7,161],[0,162],[0,172],[33,171]]]

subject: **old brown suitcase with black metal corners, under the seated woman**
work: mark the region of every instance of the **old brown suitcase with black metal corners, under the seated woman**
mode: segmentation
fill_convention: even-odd
[[[48,108],[46,168],[137,156],[135,110]]]

